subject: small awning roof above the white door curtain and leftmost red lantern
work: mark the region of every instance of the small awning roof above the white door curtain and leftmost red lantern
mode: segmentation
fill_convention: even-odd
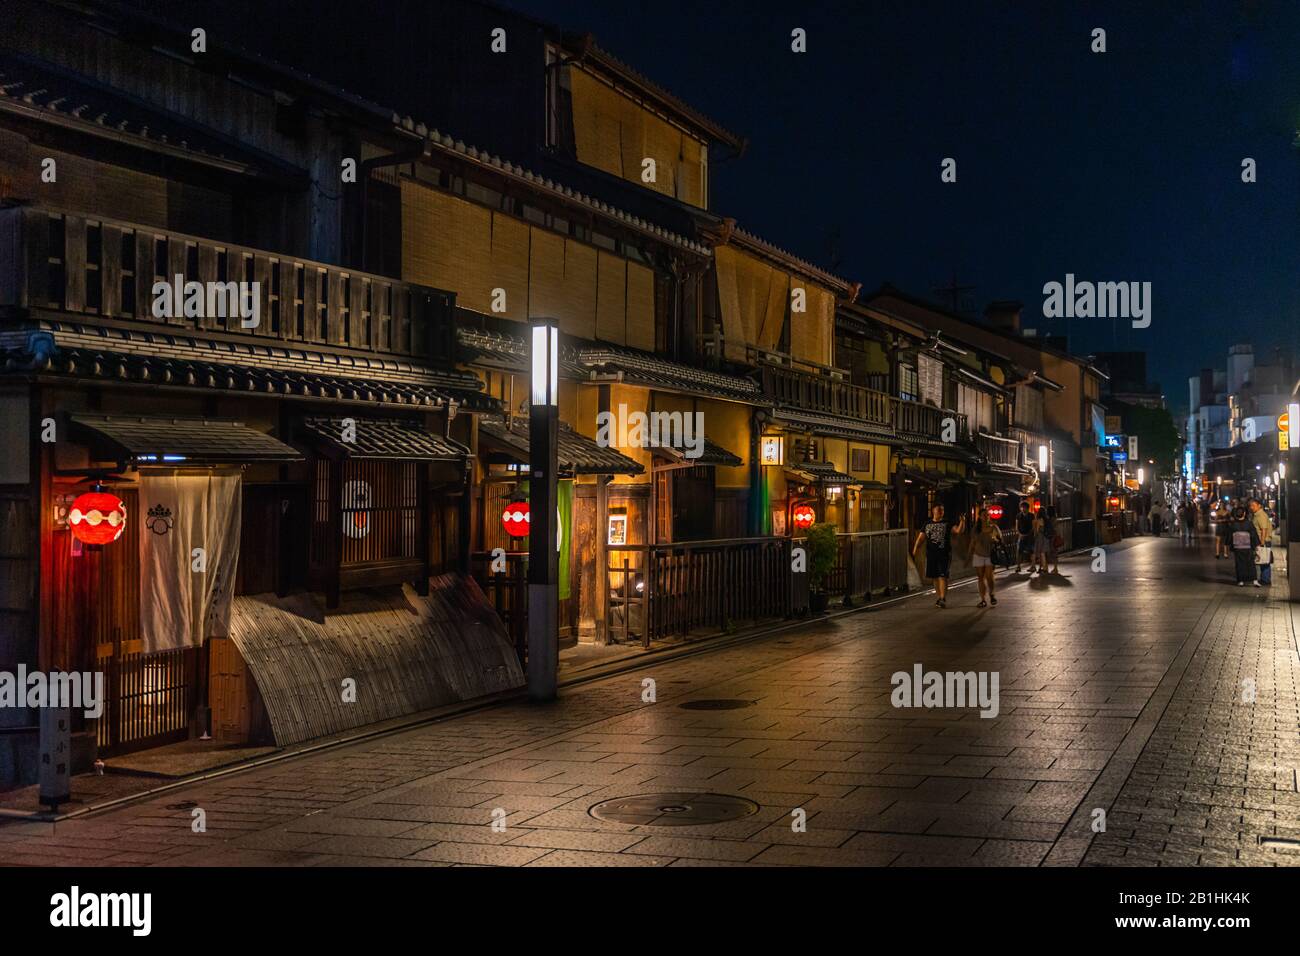
[[[72,415],[113,457],[138,463],[296,462],[302,455],[242,421],[136,415]]]

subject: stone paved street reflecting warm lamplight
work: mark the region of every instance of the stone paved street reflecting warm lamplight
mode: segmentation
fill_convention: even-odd
[[[918,596],[571,688],[552,706],[502,705],[77,821],[0,825],[0,861],[1300,865],[1286,845],[1300,842],[1286,576],[1239,589],[1210,550],[1134,538],[1105,574],[1082,555],[1061,578],[1001,578],[993,609],[970,585],[942,611]],[[997,671],[998,715],[893,708],[890,675],[916,663]],[[753,704],[680,706],[706,698]],[[697,826],[588,813],[658,792],[759,809]],[[191,831],[195,806],[205,832]]]

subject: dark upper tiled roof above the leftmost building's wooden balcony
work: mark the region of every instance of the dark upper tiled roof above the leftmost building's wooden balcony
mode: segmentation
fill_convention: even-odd
[[[187,155],[238,172],[272,172],[306,179],[303,170],[226,142],[185,117],[143,104],[91,77],[5,49],[0,49],[0,112],[57,122],[95,137],[134,140],[155,151]]]

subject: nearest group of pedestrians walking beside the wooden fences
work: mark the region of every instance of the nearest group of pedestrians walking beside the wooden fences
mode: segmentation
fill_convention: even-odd
[[[930,511],[930,522],[916,535],[911,551],[915,555],[922,545],[926,546],[926,576],[935,581],[936,607],[948,606],[948,578],[952,574],[953,538],[966,531],[966,515],[956,524],[944,520],[944,506],[935,505]],[[1023,574],[1023,566],[1030,563],[1030,575],[1046,574],[1048,564],[1052,564],[1052,574],[1061,574],[1057,564],[1057,551],[1061,548],[1061,538],[1057,535],[1056,509],[1045,507],[1037,514],[1030,511],[1027,501],[1020,502],[1020,511],[1015,516],[1015,572]],[[975,570],[975,580],[979,584],[979,604],[976,607],[997,606],[997,593],[994,589],[993,572],[998,563],[998,551],[1006,546],[1002,529],[989,518],[988,507],[980,505],[975,510],[971,524],[970,540],[967,542],[967,558]],[[1010,563],[1009,561],[1004,563]]]

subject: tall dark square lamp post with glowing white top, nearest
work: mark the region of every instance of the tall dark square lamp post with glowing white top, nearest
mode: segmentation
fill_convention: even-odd
[[[528,697],[555,700],[559,670],[559,329],[532,325],[532,401],[528,420]]]

